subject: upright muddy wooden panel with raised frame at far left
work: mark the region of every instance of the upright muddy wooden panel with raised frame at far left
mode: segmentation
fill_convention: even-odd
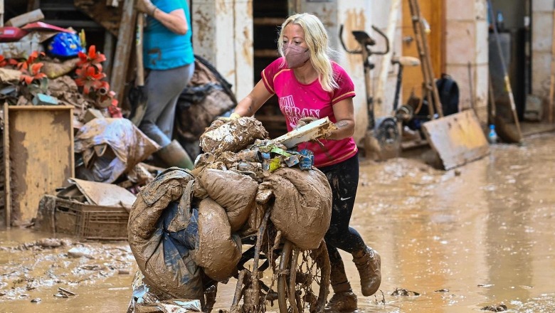
[[[75,174],[73,106],[4,105],[4,120],[6,226],[22,226]]]

